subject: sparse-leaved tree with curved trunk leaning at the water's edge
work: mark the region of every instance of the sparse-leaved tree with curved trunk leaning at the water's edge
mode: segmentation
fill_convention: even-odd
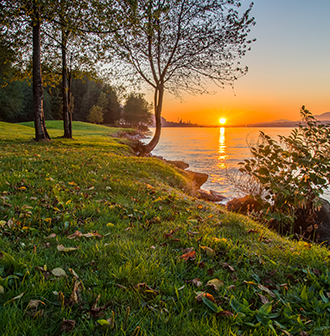
[[[247,39],[254,18],[250,7],[240,15],[236,0],[123,1],[131,25],[118,32],[118,51],[136,74],[154,90],[155,135],[140,148],[150,153],[161,133],[164,91],[180,95],[207,92],[207,80],[219,86],[247,71],[239,58],[252,42]],[[121,68],[122,71],[122,68]],[[134,79],[135,79],[134,78]]]

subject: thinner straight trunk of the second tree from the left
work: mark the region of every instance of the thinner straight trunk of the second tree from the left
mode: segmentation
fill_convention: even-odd
[[[66,64],[66,32],[62,28],[62,97],[63,97],[63,138],[72,139],[72,127],[69,111],[68,69]]]

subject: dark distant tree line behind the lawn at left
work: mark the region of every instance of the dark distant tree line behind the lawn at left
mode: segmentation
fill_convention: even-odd
[[[10,51],[0,45],[0,120],[32,121],[33,90],[29,79],[12,80],[14,69],[6,58]],[[44,88],[43,109],[46,120],[63,119],[61,84]],[[106,125],[140,127],[152,123],[152,105],[139,93],[129,94],[120,104],[116,91],[100,78],[72,79],[70,113],[73,120]]]

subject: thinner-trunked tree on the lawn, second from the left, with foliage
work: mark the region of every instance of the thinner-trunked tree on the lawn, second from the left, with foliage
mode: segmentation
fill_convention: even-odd
[[[102,52],[97,45],[97,36],[89,34],[91,31],[86,24],[88,21],[95,22],[97,18],[90,15],[95,13],[89,7],[89,1],[54,1],[56,12],[46,33],[52,42],[48,51],[55,60],[60,59],[60,65],[56,66],[61,68],[62,78],[63,137],[72,138],[72,78],[82,77],[94,68]]]

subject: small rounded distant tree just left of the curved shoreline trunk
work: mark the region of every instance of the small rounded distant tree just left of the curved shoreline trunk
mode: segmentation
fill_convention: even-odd
[[[152,123],[152,104],[149,104],[141,93],[131,93],[124,106],[123,119],[133,127]]]

